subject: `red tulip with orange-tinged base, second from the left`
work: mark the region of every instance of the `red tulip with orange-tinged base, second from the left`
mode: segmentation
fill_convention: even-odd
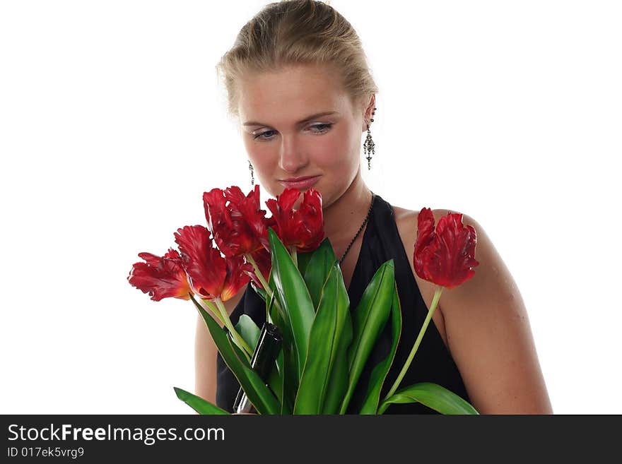
[[[223,302],[246,285],[250,277],[243,272],[242,256],[223,258],[213,247],[209,230],[202,225],[185,226],[175,232],[182,263],[192,290],[204,299]]]

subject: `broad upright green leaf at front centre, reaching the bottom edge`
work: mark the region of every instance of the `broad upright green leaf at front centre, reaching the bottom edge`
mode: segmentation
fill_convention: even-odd
[[[294,414],[321,414],[329,388],[331,370],[338,355],[346,326],[350,300],[341,275],[339,261],[329,271],[313,325],[309,349],[294,404]]]

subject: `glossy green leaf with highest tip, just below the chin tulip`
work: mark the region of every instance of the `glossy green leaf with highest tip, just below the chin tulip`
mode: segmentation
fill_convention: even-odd
[[[309,333],[315,309],[305,280],[298,272],[287,249],[272,227],[268,228],[268,234],[274,284],[283,311],[283,321],[286,326],[291,327],[291,347],[295,354],[296,374],[300,379],[307,358]]]

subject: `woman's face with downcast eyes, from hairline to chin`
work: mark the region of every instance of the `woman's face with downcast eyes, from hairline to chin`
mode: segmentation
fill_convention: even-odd
[[[269,194],[312,186],[327,208],[360,176],[363,108],[353,107],[336,73],[324,66],[291,66],[245,78],[238,92],[245,148]],[[310,176],[306,184],[285,182]]]

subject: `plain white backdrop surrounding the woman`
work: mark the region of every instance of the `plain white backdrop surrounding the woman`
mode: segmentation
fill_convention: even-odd
[[[126,278],[250,190],[214,66],[264,4],[0,4],[0,412],[193,413],[196,310]],[[553,410],[621,413],[619,2],[331,4],[380,87],[372,190],[475,218]]]

